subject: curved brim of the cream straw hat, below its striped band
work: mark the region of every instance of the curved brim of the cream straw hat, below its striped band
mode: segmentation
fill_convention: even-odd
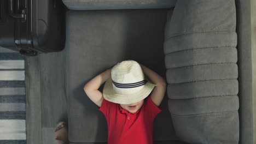
[[[146,79],[148,80],[148,79]],[[132,94],[118,94],[114,92],[111,77],[105,82],[103,87],[104,99],[118,104],[133,104],[148,97],[156,85],[149,82],[143,85],[141,91]]]

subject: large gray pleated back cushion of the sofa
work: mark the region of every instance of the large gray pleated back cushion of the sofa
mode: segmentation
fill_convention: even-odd
[[[239,140],[234,0],[177,1],[167,17],[168,107],[176,135],[189,143]]]

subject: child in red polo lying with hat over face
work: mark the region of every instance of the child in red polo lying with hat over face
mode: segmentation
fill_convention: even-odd
[[[97,89],[103,82],[101,93]],[[106,117],[108,144],[153,144],[153,122],[166,91],[160,75],[136,61],[123,61],[86,83],[84,91]]]

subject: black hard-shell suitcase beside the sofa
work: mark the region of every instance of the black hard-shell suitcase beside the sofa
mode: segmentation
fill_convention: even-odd
[[[66,10],[61,0],[0,0],[0,46],[26,56],[62,51]]]

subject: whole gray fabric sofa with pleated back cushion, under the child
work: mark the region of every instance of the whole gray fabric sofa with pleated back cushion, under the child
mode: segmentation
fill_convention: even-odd
[[[168,83],[154,143],[253,143],[250,1],[63,3],[72,144],[107,143],[106,119],[83,87],[125,59]]]

